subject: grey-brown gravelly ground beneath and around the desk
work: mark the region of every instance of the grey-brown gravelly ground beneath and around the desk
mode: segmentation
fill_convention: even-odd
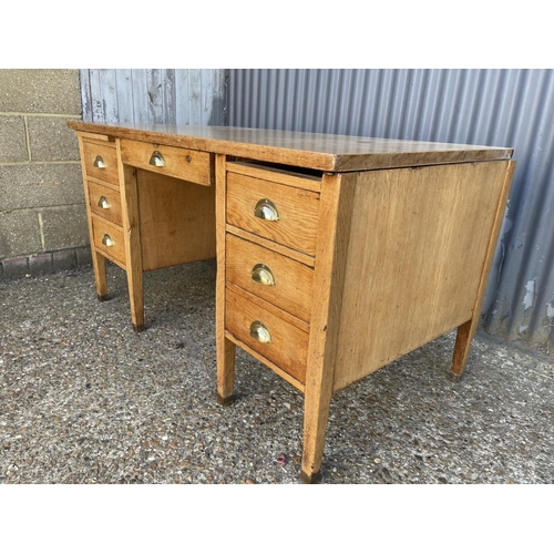
[[[299,391],[237,349],[216,402],[215,263],[145,274],[138,335],[107,273],[0,283],[0,483],[300,483]],[[453,384],[453,341],[334,396],[324,484],[554,483],[554,358],[480,331]]]

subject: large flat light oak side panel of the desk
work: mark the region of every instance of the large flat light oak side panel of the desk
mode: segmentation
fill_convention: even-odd
[[[334,390],[471,319],[507,164],[358,174]]]

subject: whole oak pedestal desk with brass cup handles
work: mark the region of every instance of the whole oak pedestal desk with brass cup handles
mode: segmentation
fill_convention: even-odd
[[[461,378],[515,162],[512,148],[239,127],[70,121],[96,290],[217,256],[217,398],[239,346],[305,394],[301,479],[320,478],[332,393],[458,328]]]

